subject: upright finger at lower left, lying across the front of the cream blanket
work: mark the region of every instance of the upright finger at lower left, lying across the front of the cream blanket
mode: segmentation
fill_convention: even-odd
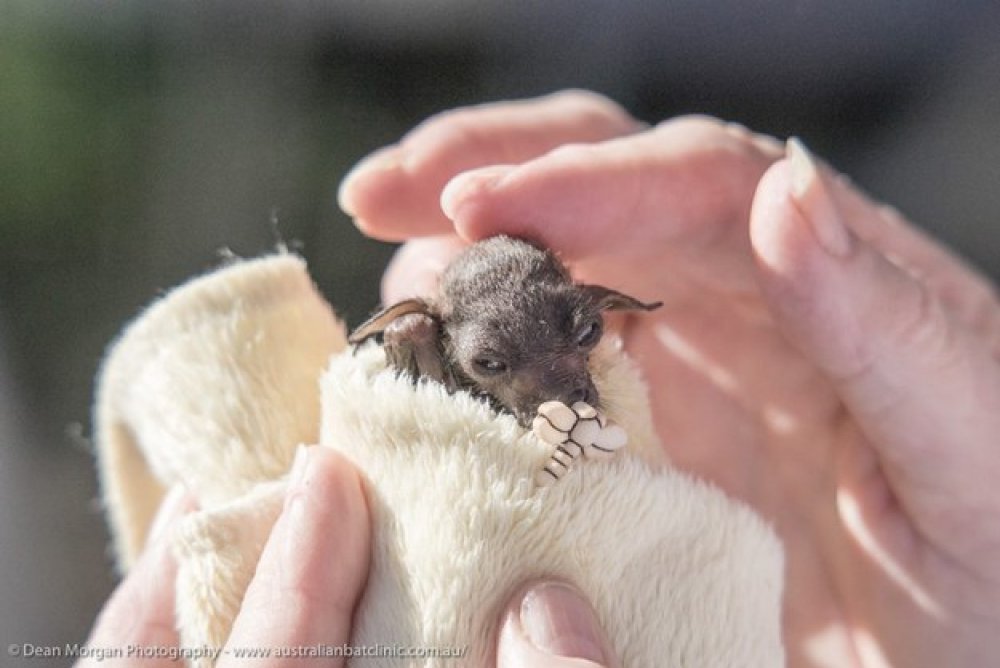
[[[357,473],[329,448],[300,450],[285,508],[218,665],[253,665],[251,659],[237,658],[248,648],[348,642],[369,560],[368,508]],[[301,658],[271,656],[259,665],[300,663]],[[315,665],[342,666],[344,659]]]

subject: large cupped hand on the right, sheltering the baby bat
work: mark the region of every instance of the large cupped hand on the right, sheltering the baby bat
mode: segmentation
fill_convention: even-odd
[[[898,214],[797,145],[582,93],[436,117],[340,200],[411,239],[387,302],[498,233],[664,301],[625,347],[672,461],[779,532],[790,665],[1000,657],[1000,305]]]

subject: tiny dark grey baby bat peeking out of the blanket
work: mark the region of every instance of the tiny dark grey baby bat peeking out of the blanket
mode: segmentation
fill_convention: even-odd
[[[661,305],[574,283],[551,251],[507,236],[466,249],[438,292],[379,311],[348,340],[382,335],[400,373],[487,398],[524,427],[546,401],[598,406],[588,361],[604,333],[603,311]]]

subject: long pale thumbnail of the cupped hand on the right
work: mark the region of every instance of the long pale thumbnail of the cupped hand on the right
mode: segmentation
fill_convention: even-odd
[[[812,225],[820,245],[834,257],[846,257],[853,246],[851,233],[837,210],[816,160],[795,137],[785,144],[792,175],[792,197]]]

